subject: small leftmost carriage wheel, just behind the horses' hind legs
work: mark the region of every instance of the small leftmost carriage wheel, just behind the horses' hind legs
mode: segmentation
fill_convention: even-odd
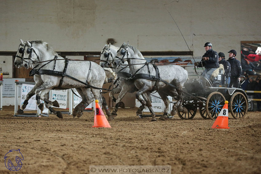
[[[185,114],[181,111],[178,111],[177,114],[179,116],[179,118],[181,119],[192,119],[196,113],[197,113],[197,108],[194,107],[194,105],[192,104],[194,102],[194,100],[192,101],[185,101],[182,103],[182,107],[185,107],[188,110],[188,113]]]

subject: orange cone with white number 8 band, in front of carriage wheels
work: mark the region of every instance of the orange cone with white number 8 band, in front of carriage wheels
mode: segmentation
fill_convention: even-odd
[[[228,101],[225,101],[225,105],[218,114],[216,121],[212,125],[213,129],[229,129],[228,127]]]

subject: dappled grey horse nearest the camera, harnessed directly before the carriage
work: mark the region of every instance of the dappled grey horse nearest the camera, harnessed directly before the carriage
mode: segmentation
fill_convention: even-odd
[[[186,109],[182,107],[182,87],[188,79],[188,72],[185,69],[178,65],[157,67],[148,64],[138,49],[124,42],[118,50],[113,64],[119,67],[125,61],[127,61],[130,66],[134,84],[138,88],[136,99],[138,99],[142,105],[146,105],[149,108],[152,115],[151,121],[157,121],[151,105],[150,93],[152,91],[158,91],[158,94],[165,104],[165,110],[160,119],[165,120],[167,118],[169,111],[168,95],[178,97],[177,106],[174,105],[172,108],[173,112],[176,110],[176,107],[178,110],[186,112]],[[145,101],[140,95],[143,96]],[[144,106],[141,106],[140,109],[143,110]]]

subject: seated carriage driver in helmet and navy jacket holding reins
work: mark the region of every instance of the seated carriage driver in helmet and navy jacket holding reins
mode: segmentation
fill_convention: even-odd
[[[211,74],[219,68],[218,54],[212,50],[212,44],[210,42],[205,43],[204,47],[206,53],[202,56],[201,62],[195,62],[195,66],[205,67],[201,75],[210,80]]]

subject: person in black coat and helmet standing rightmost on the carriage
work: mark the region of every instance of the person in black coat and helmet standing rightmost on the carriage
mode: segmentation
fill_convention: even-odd
[[[242,67],[241,67],[241,63],[239,60],[237,60],[235,58],[236,56],[236,50],[232,49],[230,50],[229,52],[229,59],[228,59],[228,62],[230,63],[231,65],[231,76],[230,76],[230,83],[228,85],[228,87],[236,87],[238,88],[240,86],[239,84],[239,76],[242,75]]]

